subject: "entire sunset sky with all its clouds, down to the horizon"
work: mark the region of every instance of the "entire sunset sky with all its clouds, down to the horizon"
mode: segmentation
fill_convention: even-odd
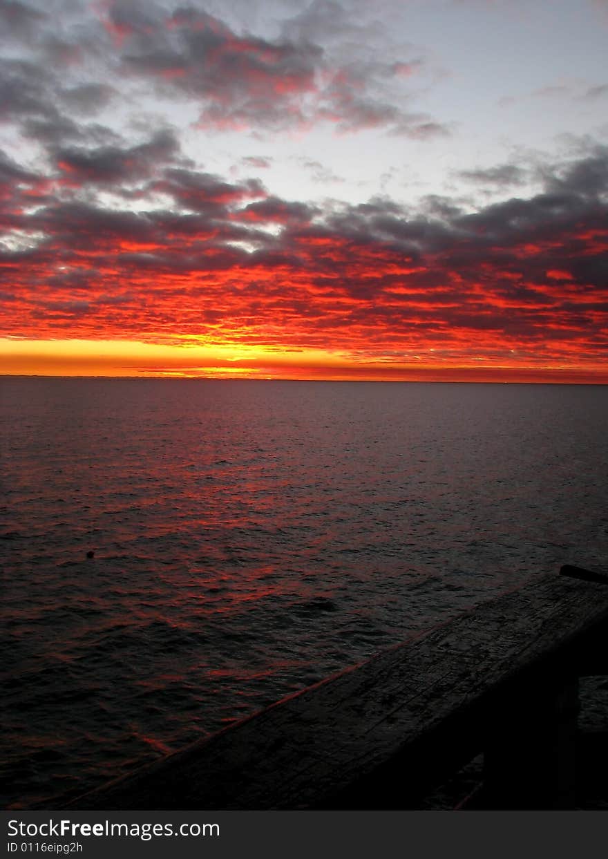
[[[608,382],[608,0],[0,0],[0,373]]]

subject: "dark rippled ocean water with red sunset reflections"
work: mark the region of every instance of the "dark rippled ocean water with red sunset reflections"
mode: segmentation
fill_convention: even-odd
[[[3,807],[608,564],[608,387],[5,377],[0,424]]]

